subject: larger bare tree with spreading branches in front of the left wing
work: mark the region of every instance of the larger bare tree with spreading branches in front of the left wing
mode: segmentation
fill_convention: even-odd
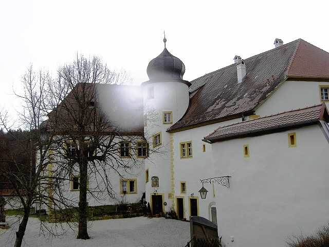
[[[104,193],[114,198],[109,173],[115,172],[124,178],[132,168],[141,164],[136,156],[148,156],[149,149],[143,137],[143,129],[130,128],[135,124],[132,119],[127,131],[127,126],[123,127],[120,121],[114,120],[124,112],[111,114],[106,111],[106,108],[116,107],[115,102],[102,107],[102,92],[111,84],[121,84],[126,74],[110,70],[97,57],[88,60],[81,56],[72,64],[61,67],[58,75],[58,81],[52,87],[52,98],[61,103],[49,114],[48,121],[51,131],[53,124],[58,126],[57,135],[60,136],[54,154],[57,164],[55,170],[60,173],[58,177],[62,178],[70,179],[72,174],[79,174],[77,238],[89,239],[87,192],[95,200]],[[63,94],[57,94],[58,89],[65,89],[69,93],[61,98]],[[112,90],[115,88],[112,87]],[[57,117],[53,118],[53,115]],[[88,188],[89,178],[96,183],[92,188]]]

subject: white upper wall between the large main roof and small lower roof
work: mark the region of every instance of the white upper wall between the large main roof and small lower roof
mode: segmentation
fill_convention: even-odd
[[[329,86],[329,82],[285,81],[255,110],[255,114],[264,117],[320,104],[320,85]]]

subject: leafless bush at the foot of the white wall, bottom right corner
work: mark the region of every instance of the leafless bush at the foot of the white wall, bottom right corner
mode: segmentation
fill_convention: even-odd
[[[293,236],[287,245],[289,247],[327,247],[329,246],[329,224],[320,228],[313,236]]]

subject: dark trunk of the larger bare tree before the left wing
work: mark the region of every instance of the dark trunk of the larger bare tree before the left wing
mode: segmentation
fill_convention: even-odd
[[[84,154],[80,155],[80,196],[79,196],[79,231],[78,239],[89,239],[87,233],[87,173],[88,161]]]

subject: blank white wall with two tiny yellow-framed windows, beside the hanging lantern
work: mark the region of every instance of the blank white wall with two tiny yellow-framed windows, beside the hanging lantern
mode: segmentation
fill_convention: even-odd
[[[296,147],[288,147],[293,132]],[[226,246],[284,246],[327,224],[327,150],[319,125],[212,144],[214,173],[232,176],[215,200]]]

